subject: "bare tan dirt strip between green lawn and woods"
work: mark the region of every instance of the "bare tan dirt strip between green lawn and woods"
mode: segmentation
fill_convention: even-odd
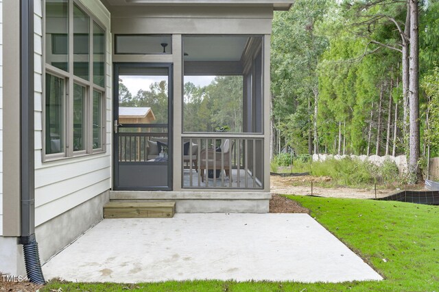
[[[331,178],[322,176],[270,176],[271,193],[272,194],[292,194],[301,196],[311,195],[311,186],[305,185],[313,182],[331,181]],[[303,183],[304,185],[294,186],[293,183]],[[382,198],[393,194],[396,189],[379,189],[377,190],[377,198]],[[351,189],[349,187],[313,187],[314,196],[331,197],[331,198],[358,198],[369,199],[375,198],[375,190],[371,189]]]

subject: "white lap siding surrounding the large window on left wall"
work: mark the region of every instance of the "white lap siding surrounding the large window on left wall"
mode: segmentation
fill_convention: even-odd
[[[110,14],[100,1],[82,4],[106,27],[106,153],[42,162],[43,155],[43,14],[35,1],[35,224],[36,226],[110,189],[111,37]],[[72,222],[73,223],[73,222]]]

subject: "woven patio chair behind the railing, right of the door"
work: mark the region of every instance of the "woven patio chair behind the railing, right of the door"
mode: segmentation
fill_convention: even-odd
[[[198,161],[200,161],[200,174],[202,182],[204,182],[204,170],[224,170],[224,172],[226,172],[226,176],[232,179],[230,177],[230,152],[232,152],[234,144],[235,142],[230,142],[229,139],[226,139],[222,142],[221,146],[219,146],[221,151],[217,151],[215,149],[201,150]],[[215,175],[215,173],[213,175]]]

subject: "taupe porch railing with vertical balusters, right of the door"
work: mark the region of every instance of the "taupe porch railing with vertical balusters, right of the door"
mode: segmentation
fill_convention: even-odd
[[[182,187],[262,189],[263,138],[257,135],[182,137]]]

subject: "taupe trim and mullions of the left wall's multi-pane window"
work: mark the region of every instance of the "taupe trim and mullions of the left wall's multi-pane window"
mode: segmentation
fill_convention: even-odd
[[[87,16],[89,17],[90,23],[88,27],[88,79],[85,80],[73,74],[73,4],[77,5]],[[60,159],[70,159],[73,157],[84,157],[88,155],[94,155],[106,152],[106,38],[107,29],[99,19],[94,16],[82,3],[77,0],[69,0],[69,72],[65,72],[51,64],[46,63],[46,1],[43,0],[43,131],[42,133],[42,161],[58,161]],[[98,25],[104,31],[104,87],[97,85],[93,80],[93,66],[94,66],[94,51],[93,51],[93,36],[94,36],[94,24]],[[64,152],[47,154],[46,153],[46,73],[60,77],[64,79]],[[85,86],[86,88],[86,127],[84,127],[86,147],[85,150],[73,151],[73,83],[78,83],[79,85]],[[101,113],[101,146],[100,148],[93,148],[93,92],[97,91],[101,93],[102,98],[102,113]],[[72,93],[72,94],[70,94]]]

